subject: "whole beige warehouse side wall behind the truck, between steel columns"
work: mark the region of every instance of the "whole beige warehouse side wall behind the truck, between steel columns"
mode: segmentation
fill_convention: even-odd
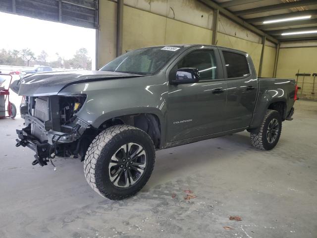
[[[124,3],[123,52],[153,45],[211,44],[213,11],[197,0],[125,0]],[[100,0],[100,66],[115,57],[115,7],[113,1]],[[243,26],[219,16],[217,45],[249,53],[257,71],[261,41],[261,37]],[[266,45],[262,76],[272,76],[274,44],[267,41]]]

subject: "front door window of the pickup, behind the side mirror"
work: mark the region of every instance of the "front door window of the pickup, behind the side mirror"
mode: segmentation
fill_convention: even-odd
[[[197,68],[201,80],[217,78],[217,65],[213,50],[197,50],[189,53],[177,63],[177,68]]]

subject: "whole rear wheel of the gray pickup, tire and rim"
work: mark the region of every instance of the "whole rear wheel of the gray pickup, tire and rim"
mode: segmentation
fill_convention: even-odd
[[[277,111],[267,110],[261,126],[251,132],[251,144],[261,150],[271,150],[277,144],[282,130],[282,120]]]

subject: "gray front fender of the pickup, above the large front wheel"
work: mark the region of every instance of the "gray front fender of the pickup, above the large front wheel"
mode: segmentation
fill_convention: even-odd
[[[157,74],[72,84],[58,95],[86,94],[86,101],[76,116],[95,128],[108,119],[140,113],[156,115],[161,128],[165,128],[166,92],[165,76]]]

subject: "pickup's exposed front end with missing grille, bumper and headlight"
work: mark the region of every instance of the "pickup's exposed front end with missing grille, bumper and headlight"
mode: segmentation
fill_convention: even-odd
[[[16,146],[27,146],[36,152],[33,165],[47,165],[55,155],[81,159],[85,156],[81,142],[90,124],[76,116],[85,100],[84,94],[26,97],[20,107],[26,127],[16,130]]]

